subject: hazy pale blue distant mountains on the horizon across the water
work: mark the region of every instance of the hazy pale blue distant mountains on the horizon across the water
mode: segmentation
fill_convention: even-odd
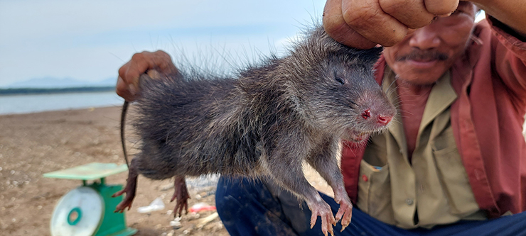
[[[81,81],[73,78],[58,79],[55,77],[43,77],[38,79],[29,79],[23,82],[15,82],[4,86],[5,89],[15,88],[33,88],[33,89],[51,89],[51,88],[74,88],[74,87],[102,87],[102,86],[115,86],[117,84],[116,78],[103,79],[98,82]]]

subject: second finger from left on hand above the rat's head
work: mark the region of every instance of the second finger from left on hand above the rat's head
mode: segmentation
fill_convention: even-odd
[[[343,1],[343,19],[363,37],[384,46],[402,41],[407,26],[382,11],[377,0]]]

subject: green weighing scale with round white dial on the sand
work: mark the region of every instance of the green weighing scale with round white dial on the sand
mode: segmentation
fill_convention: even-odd
[[[58,201],[51,217],[52,236],[127,236],[137,230],[126,226],[124,213],[114,213],[122,196],[112,198],[122,185],[106,185],[106,177],[128,170],[126,164],[93,162],[79,167],[45,173],[46,178],[80,179],[82,186]],[[100,179],[100,182],[87,181]]]

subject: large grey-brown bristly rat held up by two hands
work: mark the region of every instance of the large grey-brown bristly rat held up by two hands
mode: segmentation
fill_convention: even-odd
[[[142,75],[133,121],[140,152],[129,165],[126,187],[115,193],[127,193],[116,211],[131,207],[138,174],[175,176],[172,201],[178,199],[179,214],[188,208],[185,176],[266,176],[306,201],[311,227],[318,215],[324,234],[340,219],[346,227],[352,204],[338,168],[339,143],[364,145],[396,112],[373,79],[381,51],[347,47],[318,27],[285,57],[241,69],[237,78]],[[304,161],[333,189],[340,204],[336,219],[305,179]]]

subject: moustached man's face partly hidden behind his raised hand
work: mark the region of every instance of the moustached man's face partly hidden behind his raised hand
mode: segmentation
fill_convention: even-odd
[[[433,84],[465,50],[475,24],[475,8],[461,1],[451,16],[408,33],[402,42],[385,48],[387,64],[404,82]]]

